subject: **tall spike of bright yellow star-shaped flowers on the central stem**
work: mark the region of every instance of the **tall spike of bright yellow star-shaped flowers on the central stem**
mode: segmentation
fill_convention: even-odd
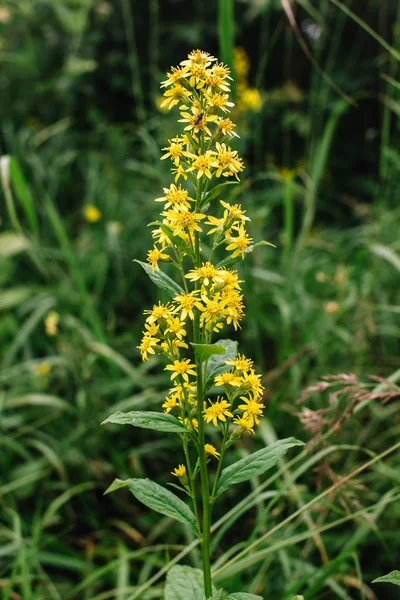
[[[255,374],[252,362],[240,355],[226,361],[230,370],[215,378],[226,397],[199,406],[198,369],[183,354],[189,348],[188,332],[196,330],[194,339],[210,344],[213,334],[225,325],[240,327],[244,315],[242,282],[229,267],[252,251],[253,240],[246,231],[250,219],[240,204],[219,200],[213,193],[215,184],[221,188],[220,183],[229,178],[239,181],[244,168],[237,151],[229,146],[237,136],[228,116],[233,107],[230,80],[228,67],[207,52],[195,50],[178,67],[172,67],[162,83],[162,106],[179,109],[183,131],[163,148],[161,160],[170,161],[175,181],[155,199],[162,203],[162,210],[147,261],[154,275],[160,262],[171,263],[180,272],[183,287],[170,302],[145,311],[145,330],[138,348],[143,360],[161,354],[168,359],[166,370],[172,387],[162,405],[165,413],[176,414],[192,432],[198,430],[201,418],[201,423],[204,420],[216,427],[234,423],[235,435],[241,435],[254,430],[263,409],[261,377]],[[209,214],[212,206],[219,210],[218,216]],[[221,247],[228,256],[218,264],[213,258]],[[214,446],[205,444],[204,449],[219,459]],[[186,477],[182,465],[173,474],[181,481]]]

